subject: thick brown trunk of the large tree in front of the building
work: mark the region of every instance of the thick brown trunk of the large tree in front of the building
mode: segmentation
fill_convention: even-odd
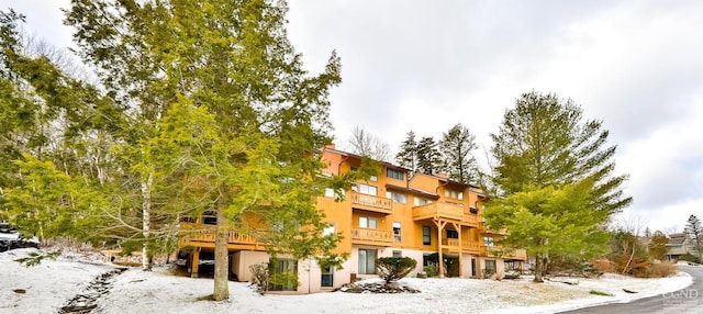
[[[214,291],[212,299],[215,301],[227,300],[230,298],[230,282],[228,282],[228,251],[227,242],[230,237],[230,224],[227,216],[225,215],[226,209],[226,193],[221,188],[220,199],[217,200],[217,232],[215,235],[215,274],[214,274]]]

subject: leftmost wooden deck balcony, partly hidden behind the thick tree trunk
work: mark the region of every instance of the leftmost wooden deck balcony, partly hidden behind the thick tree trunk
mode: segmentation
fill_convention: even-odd
[[[203,247],[214,247],[216,229],[214,225],[180,223],[180,232],[182,233],[178,240],[180,246],[194,245]],[[243,235],[236,231],[230,231],[227,243],[231,246],[257,246],[256,238],[252,235]]]

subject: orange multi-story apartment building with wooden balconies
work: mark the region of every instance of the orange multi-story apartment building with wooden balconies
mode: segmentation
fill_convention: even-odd
[[[361,166],[361,156],[328,146],[322,149],[327,175],[337,176]],[[277,260],[278,269],[295,269],[299,285],[278,287],[300,293],[338,288],[356,278],[375,277],[375,261],[380,257],[403,256],[417,261],[413,276],[435,265],[439,276],[481,277],[501,273],[505,268],[522,267],[526,255],[522,249],[503,250],[494,243],[504,235],[482,225],[481,211],[486,197],[471,184],[456,182],[443,175],[414,173],[388,162],[378,162],[378,176],[359,180],[336,200],[332,189],[317,200],[317,206],[332,224],[326,232],[341,233],[339,253],[349,259],[342,269],[320,269],[314,259]],[[208,223],[208,217],[194,224]],[[193,227],[193,223],[181,223]],[[202,227],[202,226],[201,226]],[[190,246],[189,270],[197,274],[199,259],[214,248],[213,229],[183,238]],[[238,281],[248,281],[249,265],[269,261],[265,247],[255,238],[230,236],[231,272]],[[436,262],[443,260],[444,262]],[[433,263],[434,262],[434,263]]]

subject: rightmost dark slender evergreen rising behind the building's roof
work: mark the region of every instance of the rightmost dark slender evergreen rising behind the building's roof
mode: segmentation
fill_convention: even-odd
[[[467,184],[475,183],[478,178],[478,165],[471,156],[471,150],[476,148],[476,136],[460,123],[443,133],[439,141],[442,166],[450,179]]]

